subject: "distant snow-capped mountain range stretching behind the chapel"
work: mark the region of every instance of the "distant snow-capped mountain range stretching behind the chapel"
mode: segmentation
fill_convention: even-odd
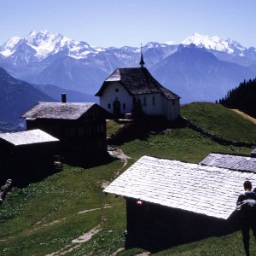
[[[94,47],[44,30],[0,46],[0,67],[16,79],[48,84],[38,85],[48,95],[58,88],[72,90],[73,100],[84,93],[84,100],[97,102],[94,94],[103,80],[117,67],[139,67],[140,53],[139,47]],[[155,79],[183,103],[215,102],[256,76],[256,49],[217,36],[195,33],[178,44],[150,42],[143,57]]]

